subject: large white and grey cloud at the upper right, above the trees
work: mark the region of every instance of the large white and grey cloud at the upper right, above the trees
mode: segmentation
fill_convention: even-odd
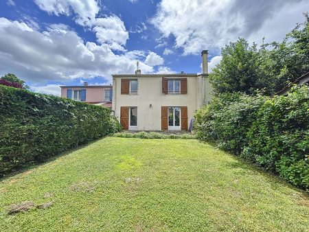
[[[297,8],[295,14],[301,15],[309,8],[306,0],[162,0],[158,5],[157,14],[151,22],[165,37],[175,38],[175,47],[183,48],[183,53],[198,54],[203,49],[223,47],[238,36],[249,38],[262,27],[264,32],[271,32],[273,27],[266,25],[267,19],[273,18],[278,12],[281,16],[274,17],[279,22],[286,17],[286,11]],[[297,23],[293,17],[285,21]],[[302,20],[303,21],[303,20]],[[281,38],[292,28],[282,26],[279,30]],[[264,34],[258,34],[261,38]]]

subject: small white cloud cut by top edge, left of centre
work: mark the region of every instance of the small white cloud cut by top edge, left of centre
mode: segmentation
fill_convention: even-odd
[[[34,0],[41,10],[49,14],[71,15],[72,11],[76,14],[76,23],[88,25],[95,19],[100,8],[95,0]]]

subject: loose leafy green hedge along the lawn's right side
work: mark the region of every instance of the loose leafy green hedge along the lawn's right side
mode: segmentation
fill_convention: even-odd
[[[231,94],[196,113],[197,137],[309,190],[309,87],[287,96]]]

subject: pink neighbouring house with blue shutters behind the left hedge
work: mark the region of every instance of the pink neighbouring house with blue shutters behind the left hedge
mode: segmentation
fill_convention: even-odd
[[[111,85],[88,85],[84,82],[84,86],[60,86],[60,88],[61,97],[112,108],[113,86]]]

